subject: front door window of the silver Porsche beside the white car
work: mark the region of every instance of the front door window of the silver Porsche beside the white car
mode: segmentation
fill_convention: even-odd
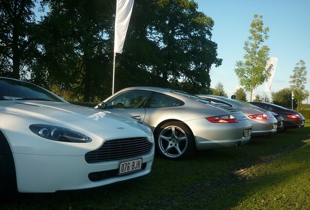
[[[108,101],[105,108],[143,108],[151,93],[146,90],[126,91]]]

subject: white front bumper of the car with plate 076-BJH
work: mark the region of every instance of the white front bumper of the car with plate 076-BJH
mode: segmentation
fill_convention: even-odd
[[[13,154],[19,192],[56,192],[94,188],[147,175],[154,159],[152,153],[143,156],[144,169],[126,175],[113,175],[91,181],[91,173],[117,170],[119,160],[88,164],[84,156],[41,156]]]

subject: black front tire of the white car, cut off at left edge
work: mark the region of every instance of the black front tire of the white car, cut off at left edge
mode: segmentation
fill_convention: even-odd
[[[16,172],[9,143],[0,132],[0,195],[1,199],[17,194]]]

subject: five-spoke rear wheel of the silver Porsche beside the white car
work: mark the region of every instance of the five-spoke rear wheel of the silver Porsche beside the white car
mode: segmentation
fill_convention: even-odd
[[[191,129],[182,122],[163,124],[155,134],[156,152],[167,159],[186,159],[194,154],[195,141]]]

